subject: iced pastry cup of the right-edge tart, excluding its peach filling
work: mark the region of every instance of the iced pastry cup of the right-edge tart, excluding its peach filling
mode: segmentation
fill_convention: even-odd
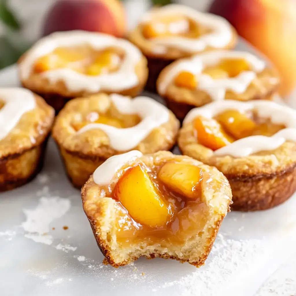
[[[285,128],[273,136],[248,136],[213,151],[198,142],[196,118],[226,110],[255,111],[259,120]],[[232,120],[228,121],[231,122]],[[233,122],[233,121],[232,121]],[[240,124],[241,128],[245,124]],[[201,135],[200,135],[201,136]],[[181,152],[213,165],[229,180],[234,210],[265,210],[286,201],[296,189],[296,111],[270,101],[222,101],[192,109],[178,137]]]

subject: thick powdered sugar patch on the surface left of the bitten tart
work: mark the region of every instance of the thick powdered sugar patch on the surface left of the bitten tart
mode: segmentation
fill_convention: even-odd
[[[21,227],[27,231],[25,237],[35,242],[52,244],[52,235],[47,234],[49,224],[70,209],[70,200],[60,197],[41,197],[35,209],[24,209],[26,221]]]

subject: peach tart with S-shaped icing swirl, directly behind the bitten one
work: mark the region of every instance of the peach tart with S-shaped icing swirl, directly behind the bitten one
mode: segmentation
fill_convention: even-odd
[[[57,116],[52,136],[70,181],[81,188],[112,155],[132,149],[170,150],[179,126],[175,115],[151,98],[98,94],[68,102]]]

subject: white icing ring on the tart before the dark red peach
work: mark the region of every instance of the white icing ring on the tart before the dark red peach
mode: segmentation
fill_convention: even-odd
[[[91,76],[68,68],[62,68],[45,71],[40,75],[52,83],[60,80],[63,81],[71,91],[86,90],[97,92],[105,89],[122,91],[132,88],[139,83],[138,76],[135,73],[135,66],[141,60],[142,54],[136,46],[124,39],[86,31],[57,32],[39,40],[26,53],[24,59],[19,64],[21,79],[28,79],[33,64],[39,57],[49,54],[57,47],[71,47],[84,44],[90,45],[96,50],[102,50],[107,47],[119,47],[124,50],[125,58],[120,68],[109,74]]]

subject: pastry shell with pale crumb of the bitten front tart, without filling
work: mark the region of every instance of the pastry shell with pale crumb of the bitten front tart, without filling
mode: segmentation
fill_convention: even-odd
[[[147,259],[161,257],[165,259],[176,259],[200,267],[204,264],[210,253],[215,237],[218,233],[221,222],[227,212],[230,211],[231,189],[227,179],[216,168],[205,165],[187,156],[173,155],[168,151],[159,151],[151,155],[144,155],[135,160],[136,163],[144,163],[148,168],[162,165],[166,162],[184,162],[199,166],[207,172],[213,182],[211,189],[204,190],[202,200],[208,207],[209,218],[202,233],[197,233],[195,237],[189,237],[181,247],[170,244],[168,246],[146,245],[141,242],[131,242],[130,248],[123,248],[116,238],[116,219],[118,209],[115,200],[106,197],[106,192],[94,183],[93,176],[89,178],[81,190],[83,209],[93,230],[96,242],[105,256],[107,262],[114,267],[124,266],[140,256]],[[133,165],[129,163],[128,166]],[[125,167],[115,173],[110,184],[111,189],[123,174]],[[214,190],[213,188],[217,188]]]

